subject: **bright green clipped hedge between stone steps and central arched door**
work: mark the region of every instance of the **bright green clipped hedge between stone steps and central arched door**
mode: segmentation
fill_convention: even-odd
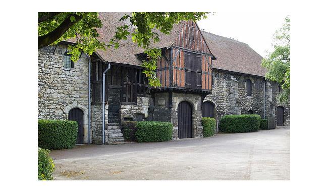
[[[138,142],[157,142],[172,139],[173,125],[169,122],[140,121],[135,133]]]

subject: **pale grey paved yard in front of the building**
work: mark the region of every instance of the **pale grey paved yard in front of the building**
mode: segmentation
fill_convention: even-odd
[[[57,180],[289,180],[290,130],[82,145],[50,155]]]

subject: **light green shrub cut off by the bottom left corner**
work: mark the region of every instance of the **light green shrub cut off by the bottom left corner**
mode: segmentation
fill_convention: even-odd
[[[49,150],[38,148],[37,151],[37,179],[52,180],[54,164],[49,156]]]

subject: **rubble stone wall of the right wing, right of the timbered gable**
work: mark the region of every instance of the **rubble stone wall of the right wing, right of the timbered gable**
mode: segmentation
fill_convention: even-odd
[[[254,114],[264,118],[264,78],[233,75],[214,70],[214,85],[212,93],[207,95],[205,101],[215,104],[214,116],[220,120],[224,115],[247,114],[252,110]],[[252,81],[252,94],[247,96],[246,80]],[[275,116],[278,106],[285,107],[285,123],[290,124],[289,104],[280,104],[277,100],[279,94],[278,83],[271,86],[270,82],[266,84],[266,113],[265,116]]]

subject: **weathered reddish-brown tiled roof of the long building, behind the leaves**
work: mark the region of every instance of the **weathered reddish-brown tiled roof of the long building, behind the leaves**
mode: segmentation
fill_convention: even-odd
[[[99,19],[103,24],[102,28],[97,29],[100,34],[100,41],[108,42],[114,36],[116,27],[129,24],[128,21],[125,21],[125,23],[119,21],[125,14],[130,13],[99,13]],[[184,22],[175,24],[169,35],[155,30],[159,34],[160,41],[153,44],[153,46],[159,48],[170,47],[178,36]],[[260,65],[262,57],[251,49],[248,44],[204,31],[202,31],[202,34],[210,51],[217,58],[213,60],[213,68],[265,76],[266,69]],[[110,47],[105,51],[97,50],[97,54],[104,61],[140,66],[141,61],[137,59],[136,54],[143,53],[143,49],[132,42],[131,36],[127,40],[120,41],[120,43],[124,46],[119,47],[119,49]]]

